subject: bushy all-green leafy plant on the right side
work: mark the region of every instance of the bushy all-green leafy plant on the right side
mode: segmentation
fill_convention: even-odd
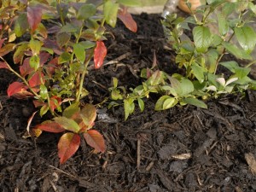
[[[186,3],[190,8],[191,4]],[[185,69],[184,74],[167,74],[160,70],[143,69],[142,77],[147,79],[142,85],[125,94],[117,86],[112,89],[118,105],[124,100],[125,119],[133,113],[137,101],[143,110],[143,98],[149,93],[160,94],[155,110],[180,105],[194,105],[207,108],[202,100],[218,97],[220,94],[235,93],[255,89],[256,84],[248,77],[253,61],[252,52],[256,44],[256,32],[249,24],[256,18],[253,1],[207,0],[204,5],[187,18],[177,14],[167,15],[162,20],[167,42],[176,52],[177,66]],[[236,43],[237,42],[237,43]],[[223,61],[224,55],[234,55],[237,59],[251,61],[241,67],[238,61]],[[230,71],[230,76],[218,74],[218,67]]]

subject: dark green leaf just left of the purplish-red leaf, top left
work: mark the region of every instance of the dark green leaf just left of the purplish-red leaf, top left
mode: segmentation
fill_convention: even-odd
[[[20,38],[29,28],[26,14],[20,14],[15,20],[15,34]]]

